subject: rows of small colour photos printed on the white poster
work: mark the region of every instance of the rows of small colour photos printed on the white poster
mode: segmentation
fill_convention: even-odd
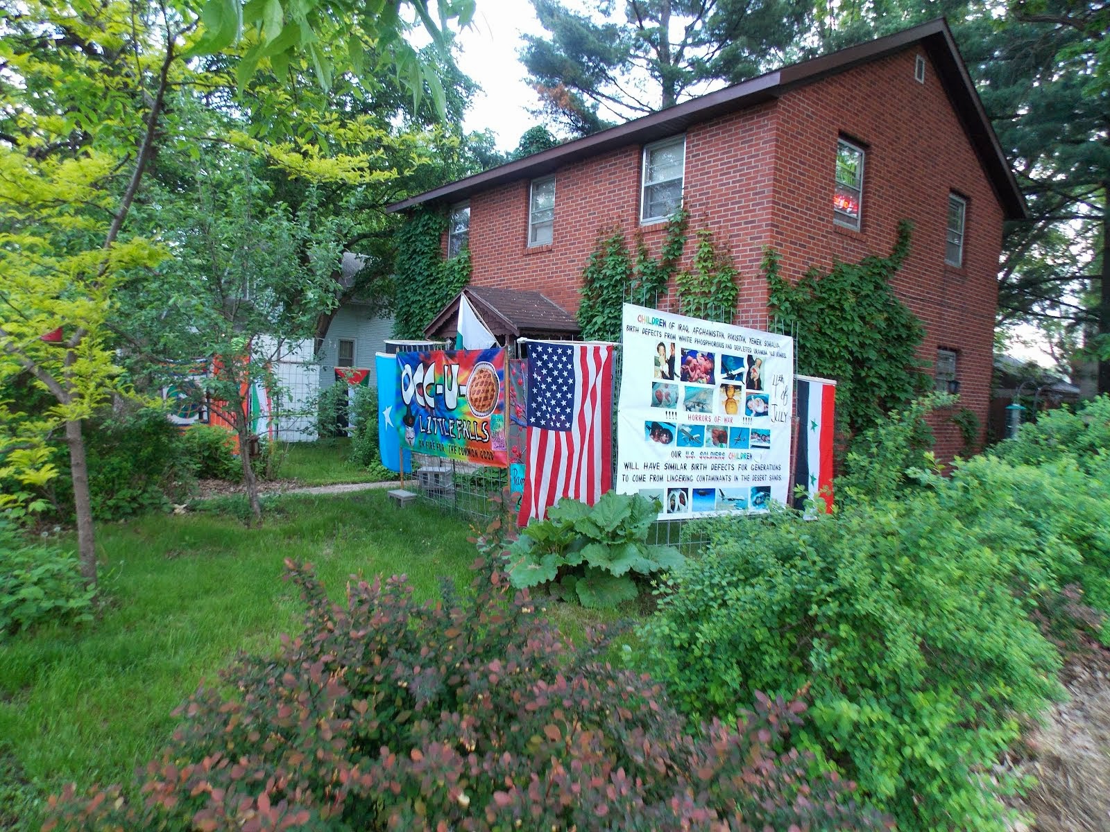
[[[656,345],[653,362],[650,405],[659,408],[659,418],[644,423],[645,439],[672,448],[746,451],[743,457],[728,453],[723,458],[749,458],[753,450],[770,449],[770,396],[764,388],[767,358],[687,348],[679,339],[666,339]],[[664,515],[759,511],[770,503],[770,487],[763,485],[639,493],[655,500]]]

